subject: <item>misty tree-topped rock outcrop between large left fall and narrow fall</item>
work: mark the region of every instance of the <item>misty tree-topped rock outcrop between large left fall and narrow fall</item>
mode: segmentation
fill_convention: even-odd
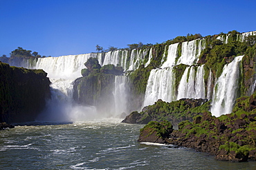
[[[113,113],[113,87],[115,77],[122,75],[122,67],[114,65],[100,66],[97,59],[90,58],[81,71],[82,76],[73,83],[73,99],[82,105],[93,105],[103,113]]]

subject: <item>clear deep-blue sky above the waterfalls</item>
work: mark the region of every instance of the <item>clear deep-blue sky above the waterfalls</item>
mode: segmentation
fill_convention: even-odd
[[[255,0],[0,0],[0,56],[23,47],[62,56],[256,30]]]

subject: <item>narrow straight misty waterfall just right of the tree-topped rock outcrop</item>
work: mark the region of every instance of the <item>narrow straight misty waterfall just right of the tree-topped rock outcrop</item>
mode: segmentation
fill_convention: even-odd
[[[127,92],[126,92],[127,76],[116,76],[113,96],[115,98],[115,114],[116,116],[127,113]]]

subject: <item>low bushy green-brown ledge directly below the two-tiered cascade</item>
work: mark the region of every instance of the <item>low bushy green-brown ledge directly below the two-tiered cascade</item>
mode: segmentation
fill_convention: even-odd
[[[203,114],[209,110],[210,103],[205,99],[182,98],[171,103],[158,100],[154,105],[144,107],[140,113],[133,111],[122,123],[147,124],[150,121],[170,121],[178,125],[183,120],[193,120],[196,115]]]

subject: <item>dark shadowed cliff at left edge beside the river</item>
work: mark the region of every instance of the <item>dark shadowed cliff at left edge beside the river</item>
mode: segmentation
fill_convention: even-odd
[[[10,67],[0,62],[0,122],[33,121],[51,98],[50,81],[43,70]]]

